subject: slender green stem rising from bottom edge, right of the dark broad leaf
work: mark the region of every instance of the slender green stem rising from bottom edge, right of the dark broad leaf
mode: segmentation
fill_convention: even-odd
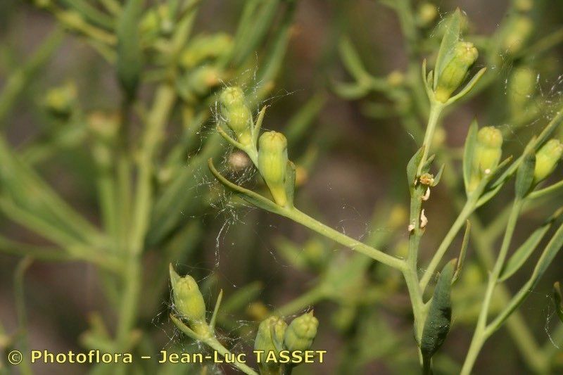
[[[490,333],[487,332],[487,317],[489,306],[491,305],[491,299],[493,298],[493,292],[495,291],[495,286],[498,283],[498,277],[502,271],[502,267],[505,264],[505,259],[510,248],[510,243],[512,241],[512,236],[514,234],[514,229],[516,228],[516,223],[520,210],[522,207],[522,201],[519,198],[514,200],[512,205],[512,212],[510,212],[510,217],[507,222],[507,228],[505,231],[505,236],[502,239],[502,245],[500,246],[500,251],[498,253],[498,258],[493,267],[493,271],[489,274],[488,284],[483,298],[483,305],[481,305],[481,312],[479,313],[479,319],[477,320],[477,326],[472,338],[472,343],[469,346],[469,351],[467,352],[467,357],[465,358],[462,375],[469,375],[473,369],[477,355],[481,351],[483,344],[485,343]]]

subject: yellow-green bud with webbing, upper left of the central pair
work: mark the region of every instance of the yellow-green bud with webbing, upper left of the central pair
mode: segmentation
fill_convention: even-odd
[[[244,146],[252,144],[252,113],[246,105],[240,87],[227,87],[219,97],[221,113],[227,125],[236,135],[236,140]]]

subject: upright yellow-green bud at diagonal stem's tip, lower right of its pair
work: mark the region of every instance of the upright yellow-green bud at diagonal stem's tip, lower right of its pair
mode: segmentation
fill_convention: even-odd
[[[265,132],[260,136],[258,170],[266,182],[274,201],[286,205],[287,140],[284,134]]]

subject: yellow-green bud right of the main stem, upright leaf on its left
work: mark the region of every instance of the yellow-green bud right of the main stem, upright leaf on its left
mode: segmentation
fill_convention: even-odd
[[[495,127],[483,127],[477,133],[472,160],[469,191],[474,191],[481,179],[491,173],[502,156],[502,133]]]

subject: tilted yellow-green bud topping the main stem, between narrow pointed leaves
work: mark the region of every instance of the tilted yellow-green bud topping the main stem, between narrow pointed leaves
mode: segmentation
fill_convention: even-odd
[[[457,90],[467,77],[469,68],[479,57],[479,52],[470,42],[457,42],[450,58],[445,62],[441,72],[438,72],[436,99],[445,103],[453,91]]]

